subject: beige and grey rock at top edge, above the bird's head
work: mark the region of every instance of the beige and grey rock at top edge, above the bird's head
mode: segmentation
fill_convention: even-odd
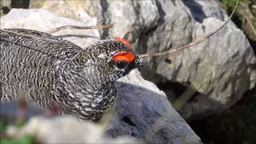
[[[58,9],[58,7],[60,7]],[[64,7],[64,9],[63,9]],[[96,17],[99,24],[114,23],[114,28],[102,31],[106,38],[113,36],[134,38],[140,36],[142,30],[150,29],[158,23],[158,8],[154,1],[82,1],[68,0],[40,2],[32,0],[30,8],[43,8],[66,18],[86,22],[86,15]],[[141,13],[142,12],[142,13]],[[85,14],[86,13],[86,14]],[[101,36],[102,36],[101,35]],[[132,41],[132,42],[134,42]]]

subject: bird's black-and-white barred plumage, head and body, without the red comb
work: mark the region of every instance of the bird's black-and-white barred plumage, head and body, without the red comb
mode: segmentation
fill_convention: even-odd
[[[1,100],[28,101],[50,107],[57,103],[67,114],[97,120],[114,102],[114,81],[139,66],[140,58],[126,44],[103,40],[82,50],[50,34],[22,29],[1,30]],[[32,37],[31,37],[32,36]],[[133,62],[114,62],[120,52]]]

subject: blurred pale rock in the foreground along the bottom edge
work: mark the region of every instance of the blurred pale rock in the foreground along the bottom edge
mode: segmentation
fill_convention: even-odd
[[[102,126],[93,122],[82,122],[72,117],[31,118],[18,129],[9,126],[6,134],[10,137],[33,136],[42,143],[142,143],[135,138],[123,136],[106,138]]]

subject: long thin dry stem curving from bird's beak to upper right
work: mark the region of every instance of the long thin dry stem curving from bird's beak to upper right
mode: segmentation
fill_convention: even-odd
[[[214,34],[217,34],[220,30],[223,29],[223,27],[225,27],[227,25],[228,22],[230,22],[230,19],[233,17],[234,12],[237,10],[238,3],[239,3],[239,0],[237,1],[236,6],[234,7],[234,10],[232,11],[232,14],[230,14],[230,18],[222,26],[220,26],[217,30],[214,30],[214,32],[206,35],[205,38],[199,39],[196,42],[191,42],[191,43],[187,44],[186,46],[181,46],[181,47],[178,47],[178,48],[174,48],[173,50],[169,50],[169,51],[165,51],[165,52],[160,52],[160,53],[153,53],[153,54],[141,54],[140,57],[148,58],[148,57],[157,57],[157,56],[160,56],[160,55],[163,55],[163,54],[171,54],[171,53],[174,53],[176,51],[184,50],[184,49],[186,49],[186,48],[188,48],[190,46],[195,46],[195,45],[198,45],[199,43],[204,42],[206,39],[212,37]]]

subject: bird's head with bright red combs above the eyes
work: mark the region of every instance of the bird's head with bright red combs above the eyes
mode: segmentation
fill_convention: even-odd
[[[123,38],[107,39],[91,45],[85,50],[86,63],[102,67],[110,82],[122,78],[135,68],[142,66],[143,60],[130,48],[130,43]],[[85,59],[85,58],[78,58]]]

